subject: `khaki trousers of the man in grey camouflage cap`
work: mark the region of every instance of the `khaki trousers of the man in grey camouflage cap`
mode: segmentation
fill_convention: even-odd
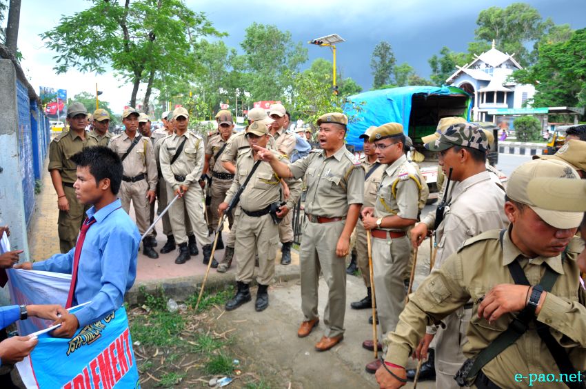
[[[466,331],[472,317],[472,308],[459,308],[442,321],[445,328],[438,328],[436,341],[436,387],[460,389],[454,375],[460,370],[466,357],[462,348],[467,343]]]

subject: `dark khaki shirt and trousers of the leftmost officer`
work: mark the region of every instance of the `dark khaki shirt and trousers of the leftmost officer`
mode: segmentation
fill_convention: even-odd
[[[77,165],[71,161],[71,157],[85,148],[86,140],[81,139],[74,131],[61,133],[51,141],[49,146],[49,172],[59,170],[63,181],[63,192],[69,201],[69,211],[59,210],[57,220],[59,232],[59,249],[61,252],[69,252],[75,246],[84,212],[87,207],[79,202],[75,196],[73,183],[77,180]]]

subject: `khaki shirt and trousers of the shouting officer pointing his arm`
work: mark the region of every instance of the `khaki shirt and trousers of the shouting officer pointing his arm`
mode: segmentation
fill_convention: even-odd
[[[346,266],[336,255],[336,245],[343,231],[345,217],[352,204],[362,204],[364,170],[352,152],[342,146],[330,157],[324,150],[314,150],[290,165],[295,178],[305,175],[307,197],[301,243],[301,310],[305,321],[318,319],[318,280],[320,271],[330,292],[323,314],[325,336],[344,333],[346,311]],[[340,218],[320,223],[319,217]],[[323,219],[321,219],[323,221]]]

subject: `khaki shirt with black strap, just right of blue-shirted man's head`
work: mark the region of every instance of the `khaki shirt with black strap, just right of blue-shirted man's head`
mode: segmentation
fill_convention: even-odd
[[[135,139],[139,136],[140,134],[137,132]],[[132,139],[128,137],[126,132],[122,132],[121,134],[110,139],[110,144],[108,147],[114,150],[114,152],[116,152],[119,157],[122,158],[130,145],[132,145]],[[156,181],[158,176],[156,174],[154,150],[150,139],[141,137],[139,143],[137,143],[137,145],[132,148],[130,154],[128,154],[128,156],[122,162],[122,167],[124,172],[123,174],[126,177],[135,177],[140,174],[145,174],[146,180],[148,182],[148,190],[156,189]]]

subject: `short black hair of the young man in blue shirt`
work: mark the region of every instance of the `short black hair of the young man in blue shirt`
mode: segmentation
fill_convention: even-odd
[[[71,160],[77,166],[90,169],[96,186],[101,180],[110,179],[112,194],[118,194],[122,182],[122,161],[116,152],[104,146],[91,146],[74,154]]]

